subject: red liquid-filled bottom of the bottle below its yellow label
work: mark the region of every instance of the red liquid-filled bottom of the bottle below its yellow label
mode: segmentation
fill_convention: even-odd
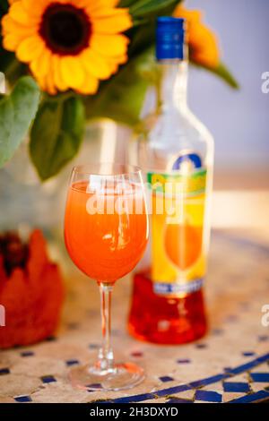
[[[203,290],[184,298],[156,296],[149,278],[134,275],[128,330],[136,339],[163,345],[202,338],[207,331]]]

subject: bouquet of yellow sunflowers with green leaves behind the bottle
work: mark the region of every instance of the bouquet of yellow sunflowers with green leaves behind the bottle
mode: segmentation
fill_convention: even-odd
[[[0,167],[30,131],[39,177],[55,176],[74,158],[86,121],[139,123],[154,83],[159,15],[186,18],[193,64],[236,88],[218,41],[198,11],[178,0],[0,0]]]

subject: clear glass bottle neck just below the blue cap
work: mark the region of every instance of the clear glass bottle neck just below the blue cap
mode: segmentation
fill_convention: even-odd
[[[161,60],[159,106],[162,112],[187,110],[187,60]]]

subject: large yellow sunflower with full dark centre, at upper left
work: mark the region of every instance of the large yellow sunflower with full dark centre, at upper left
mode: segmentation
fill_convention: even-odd
[[[132,26],[119,0],[9,0],[3,46],[29,64],[42,90],[94,94],[126,63]]]

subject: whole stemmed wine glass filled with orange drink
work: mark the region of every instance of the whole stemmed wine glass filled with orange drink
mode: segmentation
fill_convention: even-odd
[[[117,279],[132,271],[143,256],[148,227],[139,168],[90,164],[73,169],[65,208],[65,245],[74,264],[100,287],[103,338],[97,362],[70,372],[75,387],[118,391],[143,381],[141,367],[114,362],[110,305]]]

